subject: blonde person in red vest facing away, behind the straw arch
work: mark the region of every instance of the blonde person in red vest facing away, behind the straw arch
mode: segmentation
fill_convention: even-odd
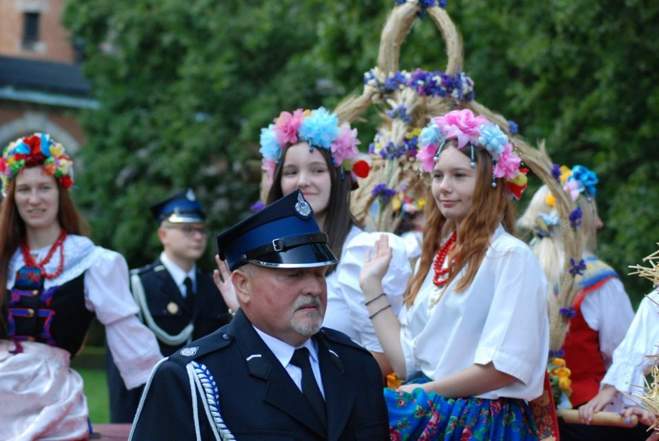
[[[633,320],[633,309],[616,271],[595,255],[597,230],[604,225],[598,216],[595,199],[597,175],[583,165],[575,165],[571,169],[556,165],[554,176],[578,206],[571,214],[571,223],[583,229],[585,234],[583,266],[581,274],[576,276],[580,290],[572,307],[565,309],[569,331],[559,354],[570,372],[569,385],[565,388],[571,389],[569,404],[577,408],[597,395],[600,381],[611,366],[614,349],[625,337]],[[547,296],[556,296],[565,263],[565,246],[554,196],[546,185],[540,187],[531,198],[517,226],[533,233],[530,245],[547,277]],[[622,402],[618,399],[610,403],[606,410],[620,411]],[[626,428],[585,427],[562,420],[559,421],[559,429],[562,440],[632,437]]]

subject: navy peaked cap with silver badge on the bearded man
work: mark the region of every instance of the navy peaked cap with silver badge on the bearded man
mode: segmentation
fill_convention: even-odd
[[[220,258],[229,269],[253,263],[272,268],[310,268],[337,262],[311,205],[300,190],[267,205],[218,234]]]

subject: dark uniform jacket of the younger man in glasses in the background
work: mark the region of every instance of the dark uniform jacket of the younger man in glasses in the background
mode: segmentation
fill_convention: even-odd
[[[179,334],[192,322],[194,330],[189,340],[196,340],[207,336],[231,320],[229,309],[212,277],[203,273],[199,268],[196,270],[196,292],[192,308],[188,306],[179,287],[160,259],[156,259],[151,265],[131,271],[131,274],[134,273],[138,274],[141,280],[151,316],[156,325],[167,334],[172,336]],[[142,321],[145,322],[143,311],[141,315]],[[147,322],[145,325],[149,326]],[[158,344],[163,356],[168,356],[185,346],[189,340],[185,340],[179,345],[168,345],[159,339]],[[106,361],[110,392],[110,420],[122,423],[132,422],[142,389],[127,391],[119,375],[119,370],[114,365],[110,351],[106,351]]]

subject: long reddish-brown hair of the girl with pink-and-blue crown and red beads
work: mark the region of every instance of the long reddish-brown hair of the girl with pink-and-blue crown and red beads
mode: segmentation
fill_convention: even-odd
[[[456,145],[450,141],[448,145]],[[446,148],[446,147],[445,147]],[[469,156],[467,148],[460,152]],[[496,179],[496,187],[492,187],[492,161],[487,150],[476,145],[474,147],[474,160],[476,162],[476,187],[472,198],[472,206],[467,216],[458,227],[458,242],[449,254],[449,280],[451,283],[460,271],[466,267],[465,275],[460,278],[456,291],[467,289],[474,281],[478,267],[485,257],[489,238],[496,227],[501,223],[507,232],[515,234],[515,211],[510,201],[503,178]],[[427,189],[427,201],[434,201],[432,188]],[[405,289],[405,304],[409,307],[414,303],[423,280],[432,267],[435,254],[439,249],[442,238],[449,231],[449,220],[445,218],[436,203],[427,203],[425,208],[426,223],[423,229],[423,246],[418,271],[409,279]],[[455,259],[455,260],[454,260]],[[448,286],[448,285],[446,285]]]

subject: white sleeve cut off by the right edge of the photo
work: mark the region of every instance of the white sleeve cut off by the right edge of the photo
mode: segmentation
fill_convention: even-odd
[[[629,331],[614,351],[614,362],[601,384],[611,384],[625,393],[640,392],[645,373],[656,362],[647,356],[659,352],[659,292],[653,291],[640,302]]]

